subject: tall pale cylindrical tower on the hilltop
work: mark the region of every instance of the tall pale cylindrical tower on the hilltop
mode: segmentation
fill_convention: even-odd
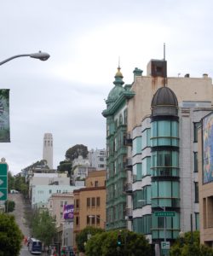
[[[52,133],[44,133],[43,160],[47,161],[47,166],[49,166],[49,169],[53,169],[53,135]]]

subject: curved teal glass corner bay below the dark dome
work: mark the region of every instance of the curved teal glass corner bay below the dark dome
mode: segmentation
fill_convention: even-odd
[[[178,118],[155,119],[151,126],[152,239],[176,239],[180,232],[179,123]],[[175,212],[174,217],[155,212]],[[164,214],[164,213],[163,213]],[[164,234],[164,221],[166,234]]]

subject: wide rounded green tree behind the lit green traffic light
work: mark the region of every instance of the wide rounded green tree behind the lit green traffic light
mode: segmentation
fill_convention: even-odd
[[[151,256],[153,252],[145,236],[129,230],[114,230],[92,236],[86,244],[86,255]]]

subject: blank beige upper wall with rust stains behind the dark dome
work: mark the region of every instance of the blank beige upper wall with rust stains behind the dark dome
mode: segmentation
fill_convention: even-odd
[[[147,64],[147,76],[139,75],[134,78],[131,90],[135,92],[135,96],[128,102],[128,131],[141,125],[141,120],[151,114],[153,95],[158,88],[164,86],[164,78],[152,73],[151,63],[154,65],[154,61]],[[170,77],[166,79],[166,86],[176,94],[179,107],[185,101],[212,102],[213,99],[212,79],[207,74],[201,78],[190,78],[189,74],[184,77]]]

